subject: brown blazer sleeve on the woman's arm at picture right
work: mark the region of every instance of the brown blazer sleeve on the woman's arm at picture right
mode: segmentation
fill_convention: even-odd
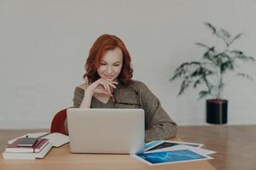
[[[160,100],[141,82],[141,99],[145,111],[145,141],[156,139],[171,139],[176,136],[177,123],[160,105]]]

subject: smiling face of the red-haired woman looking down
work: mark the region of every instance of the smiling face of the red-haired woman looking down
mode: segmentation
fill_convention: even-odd
[[[116,81],[123,67],[123,53],[120,48],[109,50],[102,56],[102,61],[97,69],[100,77],[108,81]]]

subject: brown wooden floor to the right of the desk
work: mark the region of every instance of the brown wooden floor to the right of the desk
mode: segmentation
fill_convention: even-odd
[[[256,169],[256,125],[216,125],[178,127],[177,135],[183,141],[205,144],[215,150],[209,160],[216,169]]]

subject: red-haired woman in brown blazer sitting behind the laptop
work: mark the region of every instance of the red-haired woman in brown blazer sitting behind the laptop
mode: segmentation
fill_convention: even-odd
[[[75,88],[76,108],[142,108],[145,111],[145,141],[170,139],[177,124],[143,82],[131,80],[131,57],[124,42],[104,34],[90,48],[85,64],[85,83]]]

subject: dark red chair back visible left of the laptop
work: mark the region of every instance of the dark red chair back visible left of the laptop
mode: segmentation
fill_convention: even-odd
[[[67,132],[65,130],[67,109],[63,109],[55,114],[50,125],[50,133],[62,133],[67,135]]]

